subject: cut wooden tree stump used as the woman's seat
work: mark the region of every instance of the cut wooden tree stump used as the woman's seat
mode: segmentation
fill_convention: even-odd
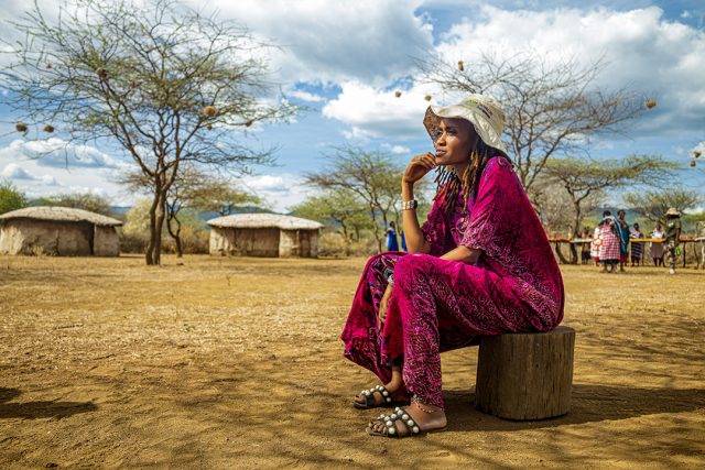
[[[571,408],[575,330],[482,337],[475,406],[508,419],[543,419]]]

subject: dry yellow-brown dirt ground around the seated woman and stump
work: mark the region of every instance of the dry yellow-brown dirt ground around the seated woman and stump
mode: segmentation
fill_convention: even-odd
[[[562,266],[571,412],[476,411],[470,348],[443,356],[448,431],[393,440],[338,339],[364,264],[0,256],[0,468],[705,467],[704,271]]]

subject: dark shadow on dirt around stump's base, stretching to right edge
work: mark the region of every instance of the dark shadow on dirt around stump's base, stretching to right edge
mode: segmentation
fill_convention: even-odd
[[[568,414],[532,422],[502,419],[473,405],[474,392],[446,391],[448,430],[523,430],[629,419],[662,413],[688,413],[705,407],[705,389],[636,389],[631,386],[574,384]],[[458,411],[465,409],[465,413]]]

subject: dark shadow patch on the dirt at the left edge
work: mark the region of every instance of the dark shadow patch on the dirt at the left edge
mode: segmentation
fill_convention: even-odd
[[[25,402],[8,403],[22,394],[17,389],[0,387],[0,419],[63,419],[82,413],[91,413],[98,406],[90,402]]]

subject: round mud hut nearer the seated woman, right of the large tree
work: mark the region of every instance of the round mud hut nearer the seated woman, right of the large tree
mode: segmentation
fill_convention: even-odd
[[[275,214],[237,214],[208,220],[210,254],[316,258],[322,223]]]

